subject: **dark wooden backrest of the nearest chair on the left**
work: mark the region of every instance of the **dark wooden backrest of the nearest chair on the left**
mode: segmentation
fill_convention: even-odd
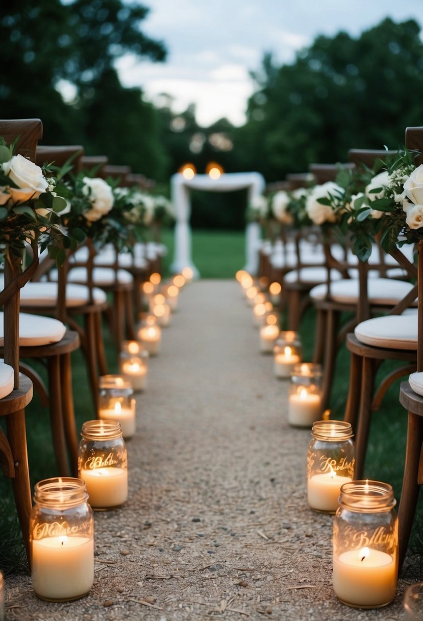
[[[42,138],[43,124],[40,119],[0,119],[0,136],[7,143],[19,138],[15,155],[23,155],[35,161],[37,142]],[[35,269],[38,257],[33,261]],[[4,290],[1,303],[4,306],[4,361],[14,369],[15,388],[19,388],[19,300],[20,288],[32,274],[21,273],[19,258],[9,256],[4,266]]]

